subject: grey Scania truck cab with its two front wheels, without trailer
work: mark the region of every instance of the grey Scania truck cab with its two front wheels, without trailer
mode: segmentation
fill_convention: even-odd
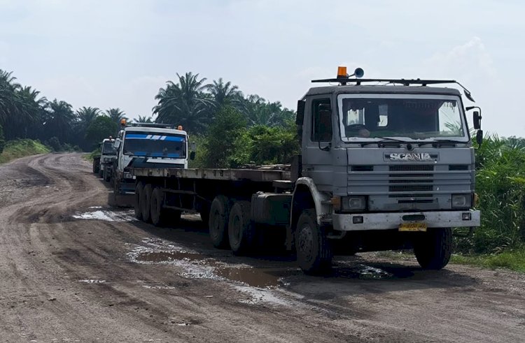
[[[302,269],[329,264],[336,246],[413,247],[423,268],[442,268],[452,228],[479,226],[480,215],[461,93],[429,86],[457,82],[316,81],[339,85],[312,87],[298,103],[302,164],[290,227]]]

